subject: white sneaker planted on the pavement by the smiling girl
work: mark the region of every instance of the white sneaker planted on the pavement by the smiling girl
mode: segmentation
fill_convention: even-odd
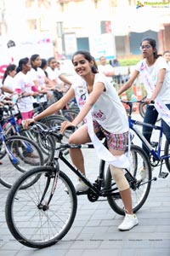
[[[134,226],[138,225],[139,221],[136,214],[126,214],[122,221],[122,224],[118,226],[118,230],[126,231],[133,229]]]

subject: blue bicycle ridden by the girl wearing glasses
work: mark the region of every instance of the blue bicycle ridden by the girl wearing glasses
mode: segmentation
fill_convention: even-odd
[[[170,152],[170,145],[169,145],[169,143],[167,142],[167,139],[166,139],[164,150],[163,150],[164,154],[161,154],[161,142],[162,142],[162,135],[163,135],[162,125],[150,125],[150,124],[132,119],[133,103],[135,103],[135,102],[130,102],[130,101],[122,101],[122,102],[127,104],[128,107],[129,107],[128,122],[129,122],[130,129],[132,131],[134,131],[134,133],[139,137],[139,140],[141,141],[141,143],[144,143],[144,146],[150,152],[150,156],[149,156],[150,157],[150,165],[152,167],[156,167],[156,166],[160,165],[159,177],[163,177],[163,178],[167,177],[168,172],[170,172],[170,153],[169,153]],[[139,102],[141,104],[144,103],[143,100],[136,101],[136,102]],[[136,127],[136,125],[151,127],[153,130],[159,131],[158,142],[148,143],[147,140],[145,139],[145,137],[143,136],[143,134]],[[161,171],[163,161],[165,161],[168,172],[162,172]]]

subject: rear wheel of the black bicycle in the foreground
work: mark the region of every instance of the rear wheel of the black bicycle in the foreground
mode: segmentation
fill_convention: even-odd
[[[135,189],[132,189],[130,187],[132,201],[133,201],[133,212],[139,211],[139,209],[144,205],[144,202],[146,201],[150,193],[152,173],[151,173],[150,161],[148,160],[148,157],[145,154],[144,150],[142,148],[139,148],[139,146],[132,145],[131,146],[131,166],[129,171],[131,172],[133,177],[137,177],[140,174],[143,166],[145,166],[144,180],[141,183],[139,183],[139,187],[137,186]],[[108,167],[108,170],[106,173],[105,186],[106,186],[106,189],[115,188],[115,191],[116,191],[115,192],[116,196],[110,195],[107,197],[110,207],[116,213],[120,215],[125,215],[125,209],[122,203],[121,195],[119,194],[119,190],[116,187],[116,183],[111,177],[110,167]]]

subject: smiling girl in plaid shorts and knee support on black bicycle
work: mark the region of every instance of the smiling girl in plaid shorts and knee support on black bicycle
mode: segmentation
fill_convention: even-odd
[[[122,106],[122,102],[110,81],[108,81],[104,74],[98,73],[98,67],[94,61],[94,57],[88,51],[77,51],[72,57],[72,63],[78,76],[72,83],[70,90],[58,102],[55,102],[45,111],[38,114],[34,119],[27,119],[25,127],[27,128],[30,123],[59,111],[59,109],[63,108],[66,103],[76,96],[80,113],[78,113],[76,119],[72,122],[65,121],[61,125],[61,132],[64,132],[68,126],[79,125],[87,117],[90,110],[92,110],[92,119],[94,122],[92,130],[95,133],[103,131],[110,154],[115,155],[116,159],[119,159],[120,156],[124,155],[127,146],[128,120],[125,108]],[[88,122],[80,126],[71,135],[69,143],[90,143],[91,132],[87,129],[87,125],[93,126],[93,123]],[[74,166],[77,166],[77,169],[85,175],[81,149],[71,148],[70,154]],[[126,213],[118,229],[130,230],[138,224],[138,219],[133,214],[129,184],[123,174],[122,168],[111,165],[111,174],[119,188]],[[88,190],[88,186],[82,181],[79,181],[75,189],[77,191],[86,191]]]

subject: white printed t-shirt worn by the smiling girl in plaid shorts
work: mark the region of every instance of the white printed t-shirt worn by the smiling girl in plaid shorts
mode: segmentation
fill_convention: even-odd
[[[122,134],[128,131],[128,120],[125,108],[117,95],[113,85],[102,73],[95,74],[94,83],[105,84],[105,91],[99,96],[92,108],[93,119],[101,125],[105,131],[114,134]],[[79,97],[79,105],[86,102],[87,84],[84,79],[76,79],[72,85],[75,94]]]

